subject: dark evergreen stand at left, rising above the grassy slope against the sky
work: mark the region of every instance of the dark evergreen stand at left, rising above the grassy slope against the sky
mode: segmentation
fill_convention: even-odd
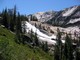
[[[15,33],[15,41],[22,42],[22,21],[28,21],[26,15],[20,15],[16,10],[16,6],[13,9],[4,9],[0,14],[0,24],[5,26],[7,29]]]

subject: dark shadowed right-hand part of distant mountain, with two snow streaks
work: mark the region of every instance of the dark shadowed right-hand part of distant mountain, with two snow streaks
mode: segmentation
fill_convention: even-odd
[[[80,22],[79,13],[80,13],[80,6],[73,6],[70,8],[66,8],[62,10],[60,14],[58,12],[59,15],[55,15],[56,18],[53,17],[51,20],[47,21],[47,23],[56,26],[62,26],[62,27],[67,27],[67,25],[73,26],[75,25],[76,22]],[[69,25],[69,24],[73,24],[73,25]]]

